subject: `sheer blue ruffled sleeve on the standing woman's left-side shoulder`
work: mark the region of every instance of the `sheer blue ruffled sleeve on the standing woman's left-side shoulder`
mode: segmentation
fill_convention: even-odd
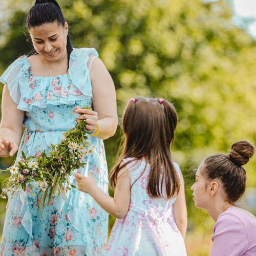
[[[13,101],[18,104],[20,101],[20,77],[25,69],[29,69],[27,56],[16,59],[0,77],[0,82],[7,83]]]

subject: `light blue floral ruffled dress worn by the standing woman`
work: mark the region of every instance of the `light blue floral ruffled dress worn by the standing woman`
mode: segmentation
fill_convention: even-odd
[[[15,60],[1,76],[19,110],[25,111],[25,132],[19,151],[40,157],[51,144],[62,139],[62,132],[75,126],[70,114],[76,105],[92,105],[92,85],[87,67],[95,49],[74,49],[69,72],[54,77],[36,77],[31,73],[27,56]],[[108,169],[103,141],[89,136],[94,152],[84,159],[79,169],[88,176],[90,170],[98,186],[108,193]],[[70,182],[75,184],[74,177]],[[108,234],[108,214],[94,199],[76,188],[63,197],[54,197],[43,209],[38,208],[37,190],[27,185],[26,193],[10,198],[7,203],[0,255],[103,255]]]

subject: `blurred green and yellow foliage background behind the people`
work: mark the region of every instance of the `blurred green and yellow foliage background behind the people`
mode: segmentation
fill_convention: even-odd
[[[1,0],[1,74],[32,49],[25,18],[33,3]],[[231,0],[58,3],[69,22],[73,46],[96,48],[111,73],[120,120],[131,97],[161,97],[176,106],[179,123],[172,154],[186,185],[187,252],[189,256],[208,255],[214,221],[194,207],[189,189],[194,180],[191,169],[210,154],[228,152],[233,142],[256,140],[256,41],[246,30],[253,19],[238,18]],[[117,157],[120,137],[119,127],[105,141],[109,167]],[[13,161],[2,158],[0,167]],[[245,167],[247,190],[240,204],[255,215],[256,157]],[[1,173],[0,182],[7,175]],[[0,200],[1,233],[6,203]],[[110,228],[113,222],[110,218]]]

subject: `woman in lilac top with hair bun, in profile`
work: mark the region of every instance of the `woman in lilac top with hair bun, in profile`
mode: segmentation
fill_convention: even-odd
[[[216,221],[210,256],[256,255],[256,218],[236,206],[246,186],[242,165],[253,154],[252,144],[238,141],[232,144],[230,154],[210,156],[197,170],[191,187],[195,206],[206,209]]]

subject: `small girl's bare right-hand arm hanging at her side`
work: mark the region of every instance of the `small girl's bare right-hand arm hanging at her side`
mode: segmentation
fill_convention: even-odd
[[[181,175],[180,191],[177,195],[173,208],[174,220],[180,230],[182,237],[185,238],[187,230],[187,207],[185,199],[184,180]]]

